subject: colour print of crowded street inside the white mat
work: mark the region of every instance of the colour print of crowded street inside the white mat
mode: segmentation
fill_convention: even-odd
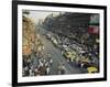
[[[99,73],[99,14],[22,11],[22,76]]]

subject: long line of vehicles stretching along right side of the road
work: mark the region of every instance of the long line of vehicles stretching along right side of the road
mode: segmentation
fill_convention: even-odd
[[[46,37],[61,50],[62,55],[67,62],[76,63],[77,66],[86,68],[88,73],[98,72],[98,67],[92,63],[91,58],[82,55],[86,51],[77,43],[70,44],[67,39],[61,39],[50,33],[46,34]]]

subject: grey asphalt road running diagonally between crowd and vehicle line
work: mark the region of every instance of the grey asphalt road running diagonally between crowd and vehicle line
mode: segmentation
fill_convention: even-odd
[[[43,33],[46,31],[44,29],[41,29],[42,32],[40,32],[41,40],[44,44],[44,54],[50,53],[53,58],[53,65],[51,66],[51,75],[57,75],[58,74],[58,65],[64,64],[66,68],[65,74],[81,74],[80,68],[76,66],[72,66],[69,63],[67,63],[66,58],[62,55],[61,51],[55,47],[55,45],[52,43],[51,40],[47,40]]]

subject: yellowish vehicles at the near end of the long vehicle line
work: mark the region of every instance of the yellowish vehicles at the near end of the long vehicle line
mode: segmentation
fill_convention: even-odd
[[[62,55],[65,56],[67,62],[75,63],[77,66],[81,68],[86,68],[87,73],[97,73],[97,66],[90,61],[89,57],[78,55],[75,50],[66,48],[62,52]]]

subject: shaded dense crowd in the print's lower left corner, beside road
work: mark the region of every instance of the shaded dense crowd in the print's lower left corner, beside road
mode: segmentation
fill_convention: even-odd
[[[35,64],[33,64],[31,56],[23,56],[23,76],[50,75],[53,64],[51,55],[47,54],[47,57],[37,57],[35,55],[34,58],[36,58]]]

